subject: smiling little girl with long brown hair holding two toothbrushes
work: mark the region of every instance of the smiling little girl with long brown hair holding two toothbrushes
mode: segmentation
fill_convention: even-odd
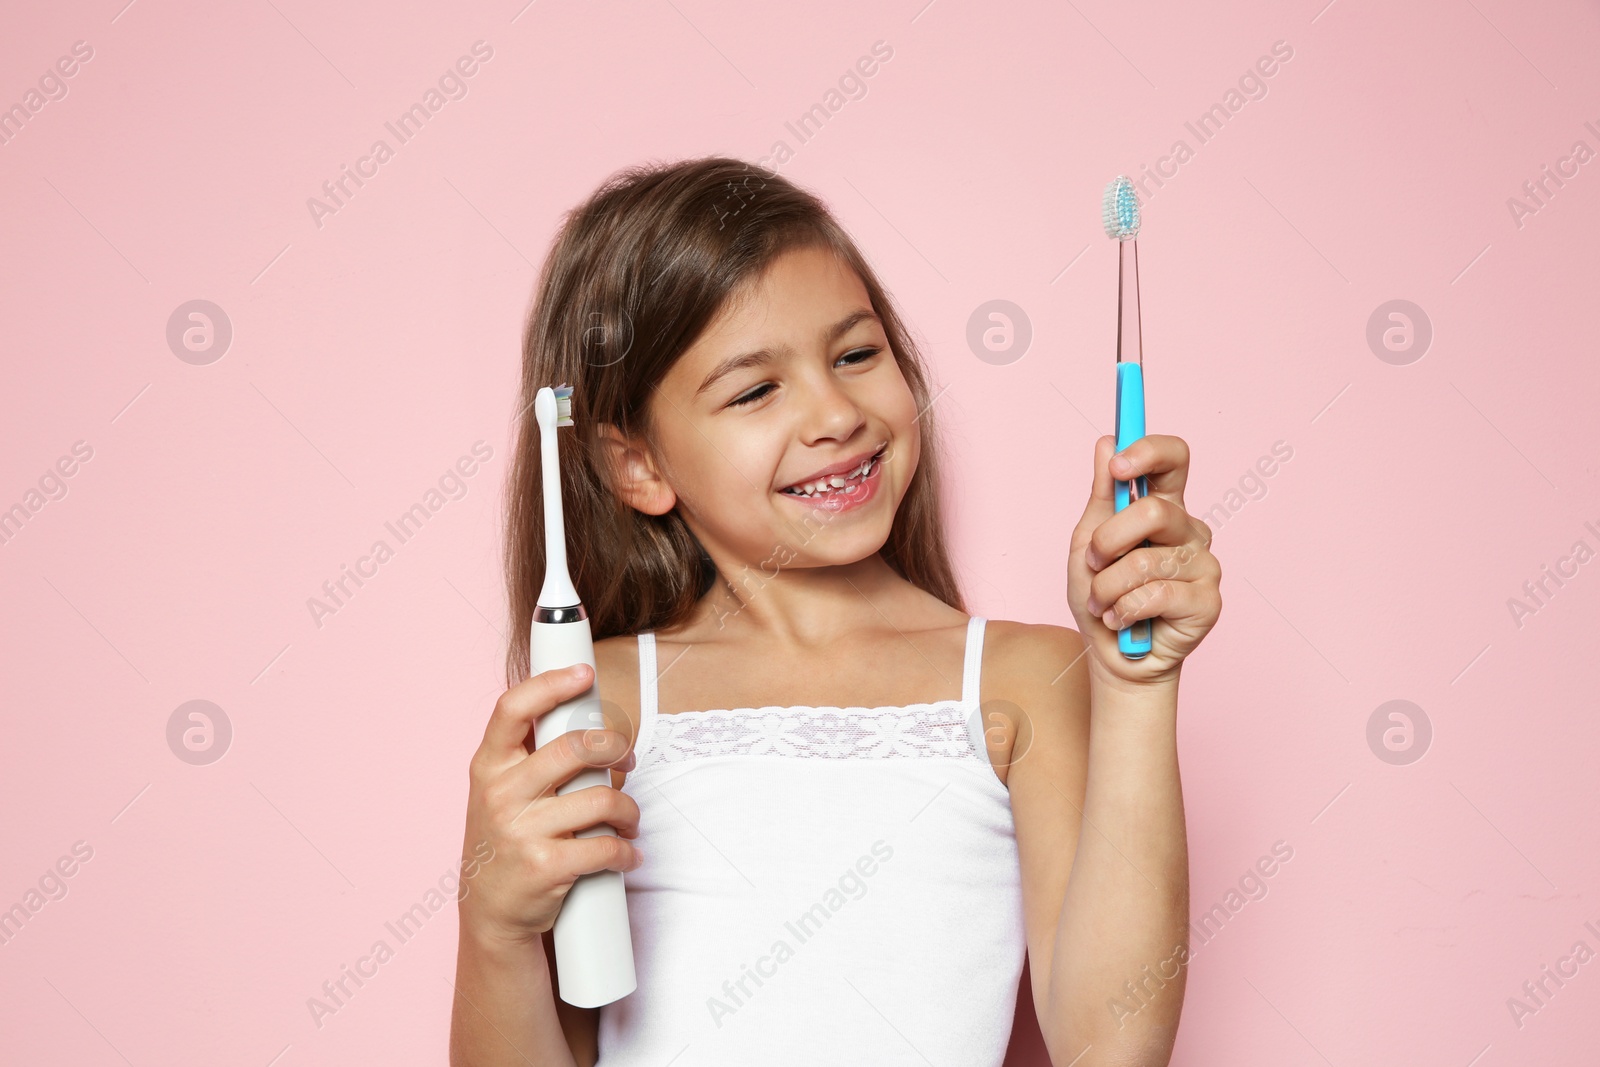
[[[600,677],[526,677],[544,544],[523,418],[451,1062],[998,1067],[1026,953],[1053,1064],[1166,1064],[1189,925],[1178,678],[1221,611],[1184,442],[1096,443],[1077,630],[968,616],[893,301],[816,197],[722,157],[627,170],[566,218],[523,413],[562,382]],[[1138,475],[1149,496],[1117,514],[1114,482]],[[1157,619],[1136,661],[1117,648],[1134,619]],[[538,717],[595,681],[614,729],[533,750]],[[555,795],[584,766],[613,787]],[[597,824],[618,837],[574,837]],[[627,872],[638,989],[578,1009],[547,934],[606,869]]]

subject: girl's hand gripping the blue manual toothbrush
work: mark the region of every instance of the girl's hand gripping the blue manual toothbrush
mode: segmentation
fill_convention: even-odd
[[[1189,445],[1147,434],[1112,467],[1115,451],[1110,435],[1094,442],[1094,488],[1072,531],[1067,603],[1088,646],[1091,677],[1112,685],[1174,683],[1184,656],[1222,611],[1222,565],[1210,550],[1211,528],[1184,509]],[[1141,474],[1149,496],[1118,512],[1115,482]],[[1138,547],[1146,539],[1150,547]],[[1128,659],[1117,648],[1117,630],[1138,619],[1152,619],[1150,651]]]

